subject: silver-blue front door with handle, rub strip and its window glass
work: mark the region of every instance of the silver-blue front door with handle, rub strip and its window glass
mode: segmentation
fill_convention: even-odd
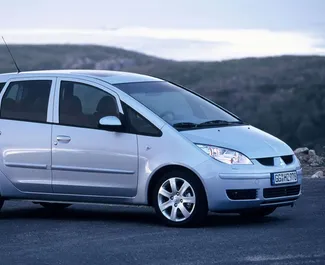
[[[135,134],[98,129],[123,113],[118,96],[97,83],[59,79],[52,130],[55,193],[132,197],[137,191]]]

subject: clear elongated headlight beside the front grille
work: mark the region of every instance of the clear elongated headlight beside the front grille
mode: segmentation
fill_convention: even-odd
[[[251,165],[252,161],[245,155],[235,150],[211,145],[196,144],[214,159],[229,165]]]

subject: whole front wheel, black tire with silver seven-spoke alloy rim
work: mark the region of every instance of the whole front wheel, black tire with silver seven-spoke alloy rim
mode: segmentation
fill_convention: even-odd
[[[164,174],[152,191],[152,202],[156,214],[168,226],[201,225],[208,212],[202,183],[186,171]]]

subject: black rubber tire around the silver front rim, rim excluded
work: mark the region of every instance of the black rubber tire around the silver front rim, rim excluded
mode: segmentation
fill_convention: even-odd
[[[191,216],[182,221],[182,222],[173,222],[169,219],[167,219],[160,211],[159,205],[158,205],[158,191],[161,185],[169,178],[172,177],[178,177],[186,180],[190,185],[192,186],[195,197],[196,197],[196,204],[193,213]],[[191,173],[183,172],[183,171],[170,171],[167,172],[165,175],[162,176],[161,179],[158,180],[156,183],[153,192],[152,192],[152,202],[153,207],[155,208],[156,214],[158,217],[168,226],[175,226],[175,227],[189,227],[189,226],[198,226],[202,225],[204,222],[204,219],[206,218],[207,212],[208,212],[208,204],[207,204],[207,198],[204,191],[204,188],[202,187],[202,184],[200,180]]]

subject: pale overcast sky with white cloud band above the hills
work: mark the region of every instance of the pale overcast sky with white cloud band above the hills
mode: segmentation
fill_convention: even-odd
[[[325,55],[325,0],[0,0],[8,43],[91,43],[176,60]]]

